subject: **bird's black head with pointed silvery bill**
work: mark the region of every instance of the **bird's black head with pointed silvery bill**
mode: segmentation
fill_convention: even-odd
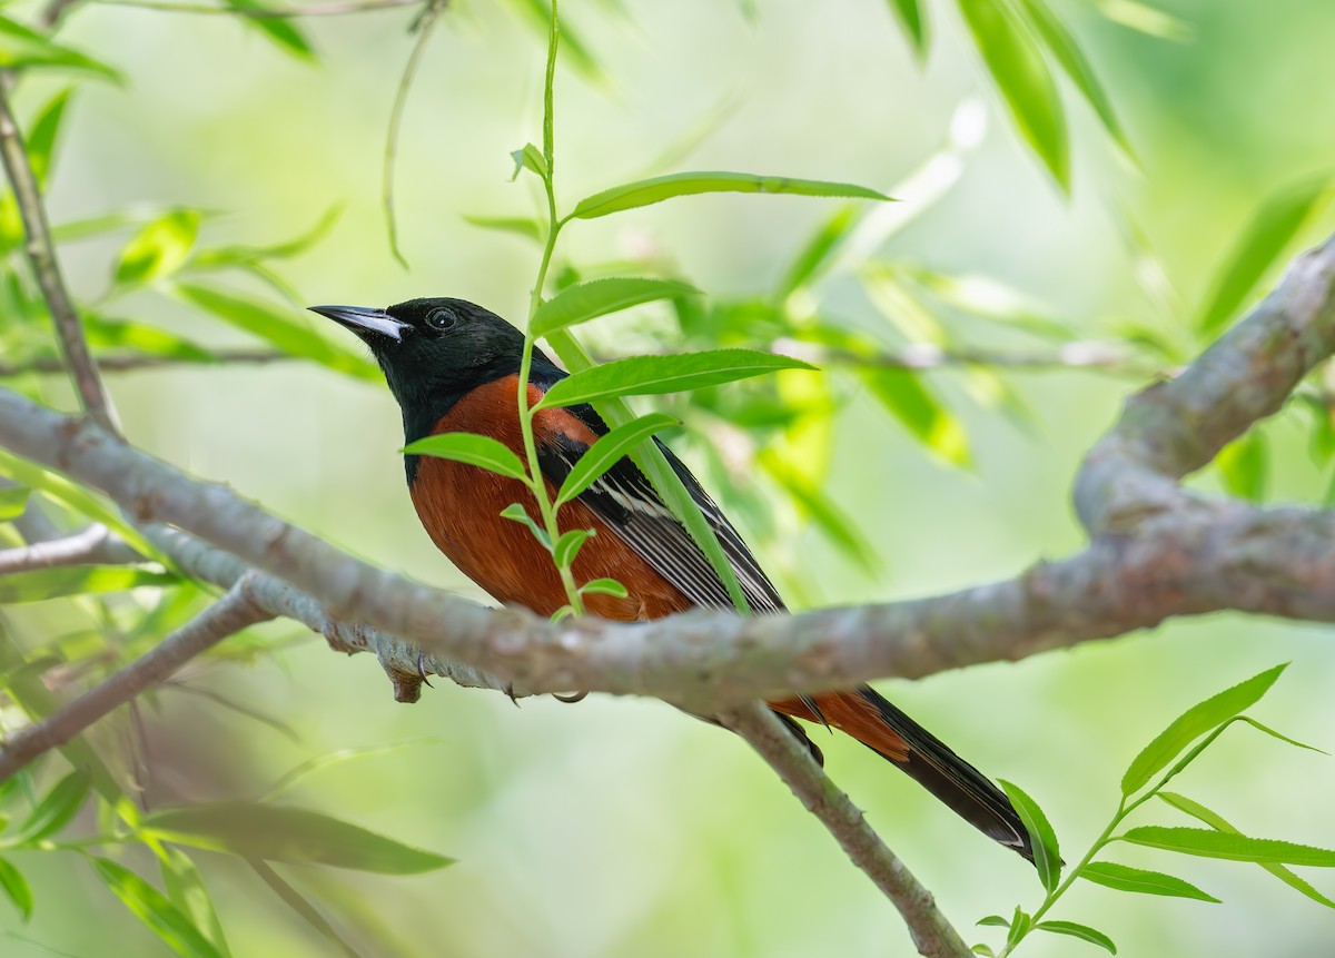
[[[403,410],[409,442],[429,435],[469,391],[517,374],[523,355],[523,334],[462,299],[410,299],[384,310],[312,306],[311,311],[346,326],[371,348]],[[538,375],[531,379],[549,370],[557,371],[535,350]]]

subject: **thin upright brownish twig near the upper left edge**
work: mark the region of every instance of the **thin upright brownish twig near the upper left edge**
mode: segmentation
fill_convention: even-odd
[[[64,279],[60,276],[60,263],[56,260],[56,248],[51,242],[51,225],[47,223],[47,209],[41,201],[37,177],[32,172],[19,124],[9,108],[9,96],[3,85],[0,85],[0,159],[4,160],[5,173],[13,185],[13,195],[23,216],[23,228],[28,237],[28,260],[37,276],[47,308],[51,310],[51,319],[56,326],[56,339],[60,342],[60,351],[69,378],[79,392],[84,411],[105,430],[119,432],[111,398],[97,375],[97,364],[93,362],[92,354],[88,352],[88,342],[84,339],[83,326],[79,323],[79,314],[75,311]]]

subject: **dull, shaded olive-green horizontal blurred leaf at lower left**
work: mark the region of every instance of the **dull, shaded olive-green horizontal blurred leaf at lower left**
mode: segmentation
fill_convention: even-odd
[[[162,841],[268,862],[332,865],[386,875],[415,875],[454,863],[318,811],[272,805],[218,802],[167,809],[144,817],[140,827]]]

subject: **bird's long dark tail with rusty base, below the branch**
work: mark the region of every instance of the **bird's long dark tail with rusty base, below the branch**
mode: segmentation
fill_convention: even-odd
[[[818,715],[809,714],[813,704]],[[776,707],[848,733],[906,771],[979,831],[1033,861],[1029,833],[1005,793],[870,686]]]

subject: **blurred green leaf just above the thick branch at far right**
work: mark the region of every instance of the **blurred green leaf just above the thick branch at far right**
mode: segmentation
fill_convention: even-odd
[[[1215,272],[1196,330],[1214,336],[1242,307],[1271,264],[1326,196],[1328,177],[1316,177],[1268,197],[1252,216],[1228,259]]]

